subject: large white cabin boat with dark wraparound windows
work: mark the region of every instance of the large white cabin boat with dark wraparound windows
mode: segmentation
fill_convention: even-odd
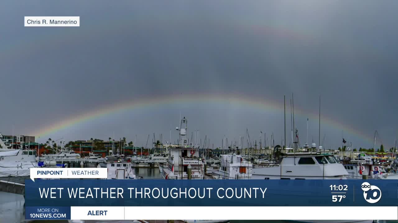
[[[347,179],[347,170],[331,154],[288,153],[278,165],[253,168],[252,179]]]

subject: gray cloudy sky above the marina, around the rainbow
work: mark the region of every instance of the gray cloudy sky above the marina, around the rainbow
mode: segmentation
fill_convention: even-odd
[[[164,95],[223,95],[219,102],[160,104],[125,110],[51,132],[77,140],[148,134],[170,137],[179,113],[211,144],[273,132],[283,113],[229,97],[290,98],[300,141],[318,142],[322,97],[324,146],[385,147],[398,133],[396,1],[1,1],[0,131],[40,132],[115,103]],[[80,27],[23,27],[23,16],[80,16]],[[306,114],[308,113],[308,115]],[[343,123],[343,125],[340,125]],[[351,131],[349,129],[354,129]],[[359,135],[353,134],[360,133]],[[172,141],[176,140],[172,133]],[[150,138],[150,141],[151,141]],[[190,137],[189,137],[190,138]],[[234,139],[235,138],[235,139]],[[42,140],[44,141],[44,139]],[[245,139],[246,141],[246,139]],[[378,142],[380,144],[380,141]]]

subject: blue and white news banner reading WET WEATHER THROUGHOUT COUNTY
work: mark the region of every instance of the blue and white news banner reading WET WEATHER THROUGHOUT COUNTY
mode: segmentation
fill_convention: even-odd
[[[398,219],[397,204],[381,179],[25,181],[26,219]]]

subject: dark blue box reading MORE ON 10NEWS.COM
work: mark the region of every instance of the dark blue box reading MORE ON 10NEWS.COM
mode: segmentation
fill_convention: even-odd
[[[70,207],[26,206],[26,220],[69,220]]]

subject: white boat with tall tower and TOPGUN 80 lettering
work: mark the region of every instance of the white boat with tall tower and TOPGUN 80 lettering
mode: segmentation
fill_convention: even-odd
[[[162,171],[164,179],[188,179],[188,169],[191,168],[191,179],[203,179],[202,159],[199,149],[187,146],[187,119],[181,119],[179,143],[176,147],[169,148],[166,166]]]

